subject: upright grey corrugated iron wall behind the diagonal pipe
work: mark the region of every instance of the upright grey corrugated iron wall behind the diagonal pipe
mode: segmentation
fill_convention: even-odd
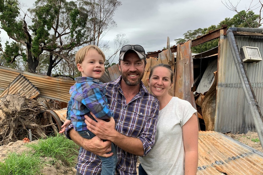
[[[235,39],[239,49],[243,46],[259,47],[263,54],[263,37],[235,36]],[[256,131],[226,36],[220,36],[219,50],[215,131]],[[258,105],[263,106],[263,61],[244,64]]]

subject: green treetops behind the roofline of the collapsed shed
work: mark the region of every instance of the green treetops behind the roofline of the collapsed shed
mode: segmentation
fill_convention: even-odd
[[[255,14],[253,11],[242,10],[234,15],[232,18],[225,18],[217,26],[211,25],[208,28],[188,30],[183,34],[184,38],[175,39],[176,44],[184,43],[188,40],[194,40],[199,36],[203,36],[210,31],[219,29],[222,25],[227,25],[229,27],[258,27],[260,15]],[[218,46],[218,39],[208,41],[206,43],[194,46],[191,48],[192,53],[201,53],[210,50]]]

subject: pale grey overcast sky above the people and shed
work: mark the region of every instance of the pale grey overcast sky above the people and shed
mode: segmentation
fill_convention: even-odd
[[[240,0],[231,0],[236,5]],[[21,0],[31,7],[32,0]],[[111,29],[103,40],[109,41],[113,54],[113,39],[117,34],[125,34],[130,44],[142,45],[147,52],[162,50],[170,38],[170,46],[175,39],[183,38],[188,30],[218,25],[226,17],[232,18],[236,13],[225,7],[221,0],[121,0],[113,19],[117,27]],[[225,0],[223,0],[225,2]],[[246,9],[250,0],[241,0],[238,11]],[[255,10],[259,14],[259,10]],[[1,32],[2,45],[8,40]],[[118,57],[118,56],[117,56]],[[116,61],[117,62],[117,58]]]

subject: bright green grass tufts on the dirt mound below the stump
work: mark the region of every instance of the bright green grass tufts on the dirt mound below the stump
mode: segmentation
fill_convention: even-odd
[[[79,150],[78,145],[60,134],[26,146],[34,150],[28,149],[21,154],[8,153],[4,162],[0,162],[0,175],[39,175],[45,163],[41,157],[52,158],[54,162],[61,160],[66,165],[74,166]]]

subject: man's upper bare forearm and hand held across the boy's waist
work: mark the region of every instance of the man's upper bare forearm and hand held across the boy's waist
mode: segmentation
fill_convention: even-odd
[[[94,115],[93,117],[95,118]],[[128,137],[116,131],[115,121],[113,118],[110,118],[109,122],[105,122],[101,119],[95,118],[98,121],[96,122],[87,115],[85,115],[85,118],[85,123],[87,124],[88,130],[97,135],[99,138],[110,140],[121,149],[129,153],[138,156],[144,155],[142,141],[139,138]]]

